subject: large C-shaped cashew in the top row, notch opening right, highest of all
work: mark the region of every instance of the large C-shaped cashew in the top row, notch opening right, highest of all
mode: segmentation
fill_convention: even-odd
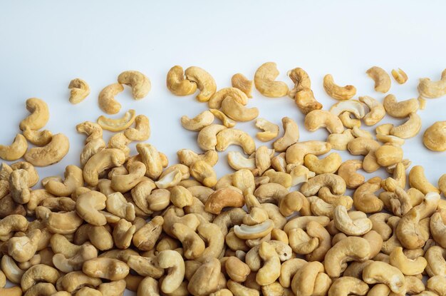
[[[279,76],[279,70],[274,62],[266,62],[257,68],[254,73],[254,84],[262,95],[269,98],[281,98],[289,91],[283,81],[275,81]]]

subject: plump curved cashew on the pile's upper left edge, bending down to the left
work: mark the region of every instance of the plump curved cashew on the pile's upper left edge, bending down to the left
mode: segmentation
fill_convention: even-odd
[[[139,144],[138,144],[139,145]],[[83,168],[83,179],[90,185],[98,185],[99,174],[108,168],[123,165],[125,154],[122,150],[108,148],[90,157]]]

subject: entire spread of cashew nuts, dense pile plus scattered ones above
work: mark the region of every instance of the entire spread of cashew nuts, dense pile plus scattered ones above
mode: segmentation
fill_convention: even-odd
[[[390,90],[383,68],[366,73],[375,91]],[[400,84],[408,80],[401,69],[391,74]],[[119,296],[127,289],[138,296],[445,296],[446,201],[440,195],[446,174],[429,183],[420,165],[410,168],[402,147],[420,133],[417,111],[425,98],[446,95],[446,70],[440,81],[420,79],[419,98],[398,101],[388,94],[383,103],[370,96],[353,100],[355,86],[338,86],[328,74],[323,88],[338,100],[328,110],[302,68],[288,73],[293,88],[277,76],[276,64],[264,63],[254,81],[237,73],[232,87],[217,89],[204,69],[174,66],[169,91],[198,91],[197,100],[209,106],[180,118],[197,133],[202,152],[180,149],[178,163],[170,164],[147,143],[147,116],[131,109],[76,126],[85,146],[64,178],[38,175],[36,167],[60,161],[70,143],[43,130],[48,106],[28,99],[22,133],[0,146],[0,158],[9,161],[0,168],[0,295]],[[100,109],[119,113],[115,96],[125,86],[140,100],[151,83],[138,71],[121,73],[100,91]],[[299,141],[299,126],[289,117],[282,118],[279,136],[279,126],[247,107],[253,87],[267,97],[293,98],[304,128],[325,128],[326,141]],[[90,95],[80,78],[68,88],[73,104]],[[407,121],[380,124],[375,135],[361,129],[386,114]],[[256,147],[234,128],[246,121],[271,146]],[[114,133],[107,143],[103,130]],[[427,128],[422,141],[445,151],[446,121]],[[132,142],[139,142],[135,155]],[[219,152],[232,145],[242,148],[227,153],[234,172],[217,178]],[[363,158],[343,160],[331,150]],[[358,172],[381,168],[388,178],[365,180]],[[33,188],[39,180],[42,188]]]

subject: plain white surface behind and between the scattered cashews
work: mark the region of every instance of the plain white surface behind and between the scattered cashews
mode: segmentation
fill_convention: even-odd
[[[76,124],[95,121],[102,114],[99,91],[132,69],[150,78],[152,91],[134,101],[126,88],[117,97],[120,114],[135,108],[148,116],[148,142],[175,163],[178,149],[198,150],[196,133],[185,131],[180,117],[207,108],[194,96],[167,91],[165,76],[176,64],[206,69],[218,88],[230,86],[234,73],[252,78],[266,61],[275,61],[278,79],[291,86],[286,71],[299,66],[310,75],[324,109],[336,103],[323,91],[326,73],[340,85],[356,86],[358,95],[382,101],[384,95],[373,90],[365,71],[380,66],[390,73],[399,67],[409,80],[403,86],[393,81],[389,93],[399,100],[417,98],[418,78],[437,80],[446,68],[445,11],[445,1],[1,1],[0,143],[9,145],[19,132],[28,115],[26,98],[43,98],[51,111],[46,128],[65,133],[71,149],[61,163],[39,171],[41,177],[62,175],[66,165],[78,164],[83,148],[85,136],[76,133]],[[90,84],[91,94],[73,106],[68,83],[76,77]],[[289,98],[253,93],[249,106],[258,107],[260,117],[279,125],[283,116],[293,118],[301,126],[301,141],[326,138],[326,131],[305,131],[304,116]],[[446,154],[427,150],[422,133],[445,121],[445,110],[446,97],[427,101],[418,112],[420,134],[403,147],[405,158],[423,165],[435,184],[446,173]],[[381,123],[403,121],[386,117]],[[236,127],[256,133],[254,123]],[[229,172],[224,154],[219,176]]]

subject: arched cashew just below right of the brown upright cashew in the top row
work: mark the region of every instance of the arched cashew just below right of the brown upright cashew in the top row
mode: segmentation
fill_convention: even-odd
[[[306,114],[304,124],[308,131],[316,131],[319,128],[326,128],[328,133],[342,133],[344,131],[341,119],[324,110],[313,110]]]

